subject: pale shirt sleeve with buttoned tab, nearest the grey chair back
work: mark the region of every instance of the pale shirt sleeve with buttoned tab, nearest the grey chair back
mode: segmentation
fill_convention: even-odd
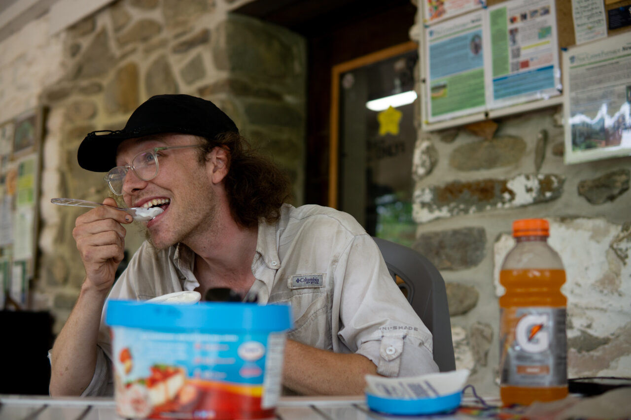
[[[392,281],[369,235],[353,238],[335,277],[340,288],[338,336],[351,351],[369,358],[384,376],[439,371],[432,334]]]

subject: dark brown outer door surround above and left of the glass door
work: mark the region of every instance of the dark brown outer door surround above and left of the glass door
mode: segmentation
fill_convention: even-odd
[[[285,26],[307,40],[304,201],[329,206],[331,73],[334,66],[410,41],[411,0],[256,0],[233,13]]]

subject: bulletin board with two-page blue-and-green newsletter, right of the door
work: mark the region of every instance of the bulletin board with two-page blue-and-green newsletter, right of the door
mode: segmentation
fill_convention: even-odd
[[[573,3],[575,9],[572,7]],[[520,10],[520,7],[523,10]],[[597,30],[593,32],[587,30],[588,26],[593,27],[593,16],[595,16],[590,8],[600,9],[598,18],[601,19],[601,25],[598,25],[598,28],[601,28],[601,33]],[[611,29],[609,16],[611,11],[616,11],[613,9],[628,10],[629,8],[631,8],[631,0],[423,0],[419,2],[419,13],[425,25],[420,37],[420,57],[425,61],[425,64],[420,66],[423,130],[444,129],[562,104],[564,93],[562,54],[563,51],[577,44],[575,27],[579,30],[579,44],[592,42],[598,37],[602,40],[603,37],[628,32],[631,26]],[[502,9],[509,10],[510,13],[506,14]],[[514,69],[512,67],[514,62],[519,61],[519,56],[516,60],[512,60],[514,58],[512,54],[519,54],[517,32],[522,30],[519,36],[523,36],[522,34],[528,30],[532,32],[533,26],[528,26],[524,22],[524,25],[518,29],[519,22],[513,25],[514,21],[505,25],[508,28],[498,28],[501,25],[497,25],[502,21],[497,18],[497,15],[502,16],[502,12],[505,13],[504,18],[510,20],[514,15],[519,21],[521,11],[524,12],[524,20],[533,17],[543,22],[536,28],[538,33],[534,33],[534,36],[540,37],[542,42],[529,42],[529,45],[522,48],[522,52],[528,57],[528,53],[533,51],[533,49],[527,50],[528,48],[534,46],[534,49],[541,49],[541,45],[546,44],[547,51],[542,52],[539,57],[535,55],[535,59],[531,58],[531,62],[536,62],[539,58],[548,60],[539,68]],[[531,15],[533,12],[536,15]],[[510,97],[510,90],[514,90],[515,86],[521,86],[526,78],[512,80],[511,74],[509,78],[502,80],[495,74],[498,73],[496,70],[498,59],[493,49],[497,50],[495,40],[502,38],[497,35],[498,29],[499,32],[505,31],[500,35],[503,35],[506,40],[506,68],[508,69],[510,61],[510,73],[514,70],[519,73],[530,73],[526,77],[530,78],[529,83],[533,83],[533,86],[537,83],[532,82],[533,77],[539,78],[540,89],[531,90],[528,95]],[[504,47],[504,45],[500,46]],[[526,66],[528,66],[527,62]],[[450,72],[452,74],[449,74]],[[498,98],[497,92],[501,91],[501,88],[507,92],[505,98]],[[451,102],[447,99],[450,95]]]

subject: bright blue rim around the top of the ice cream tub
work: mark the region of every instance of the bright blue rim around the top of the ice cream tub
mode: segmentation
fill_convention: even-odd
[[[289,305],[273,303],[200,302],[196,305],[110,300],[107,325],[151,330],[235,330],[280,332],[292,328]]]

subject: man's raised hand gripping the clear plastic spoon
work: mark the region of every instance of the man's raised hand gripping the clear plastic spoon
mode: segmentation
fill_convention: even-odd
[[[114,199],[103,204],[116,206]],[[131,215],[112,207],[100,206],[76,219],[73,237],[85,267],[85,287],[109,290],[116,269],[124,256],[126,230],[122,224],[133,221]]]

